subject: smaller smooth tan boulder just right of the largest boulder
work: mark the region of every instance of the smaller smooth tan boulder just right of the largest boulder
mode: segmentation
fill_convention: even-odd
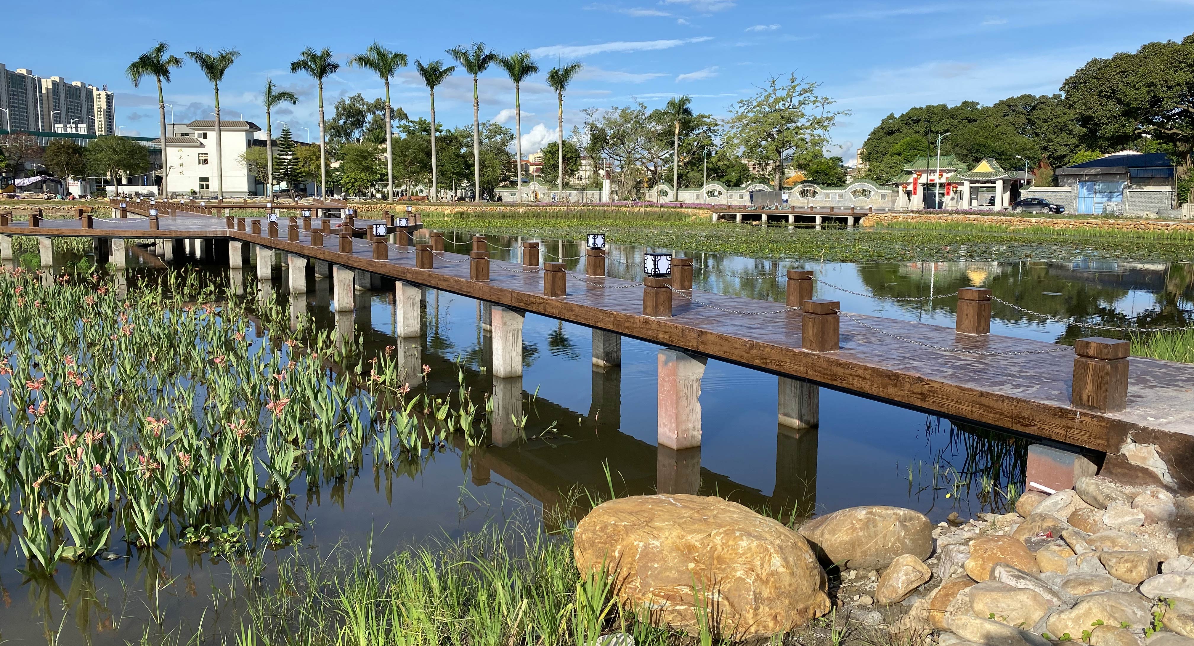
[[[851,570],[879,570],[900,554],[922,561],[933,553],[933,523],[910,509],[850,507],[805,523],[798,530],[826,562]]]

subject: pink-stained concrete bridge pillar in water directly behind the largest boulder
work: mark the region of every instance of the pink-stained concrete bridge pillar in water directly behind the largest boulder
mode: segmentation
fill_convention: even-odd
[[[708,361],[679,350],[659,351],[659,445],[701,445],[701,376]]]

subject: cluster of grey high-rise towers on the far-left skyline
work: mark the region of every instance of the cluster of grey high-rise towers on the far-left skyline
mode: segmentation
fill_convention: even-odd
[[[0,125],[7,130],[111,135],[116,131],[112,93],[62,76],[42,79],[29,69],[0,63]]]

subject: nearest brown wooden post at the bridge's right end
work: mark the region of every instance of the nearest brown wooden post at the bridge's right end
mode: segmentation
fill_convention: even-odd
[[[1127,407],[1130,342],[1089,337],[1073,343],[1073,387],[1078,407],[1114,413]]]

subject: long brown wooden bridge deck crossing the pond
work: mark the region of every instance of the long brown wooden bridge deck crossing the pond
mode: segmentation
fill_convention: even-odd
[[[468,278],[467,256],[436,253],[435,269],[419,270],[414,267],[413,247],[390,245],[390,259],[380,262],[371,258],[371,245],[361,241],[353,245],[353,253],[339,253],[336,235],[325,235],[322,247],[312,247],[307,232],[298,242],[287,241],[285,219],[278,228],[279,238],[266,238],[226,229],[222,217],[184,215],[160,219],[160,230],[154,232],[148,230],[146,220],[97,219],[90,229],[81,228],[78,220],[43,220],[39,228],[32,229],[26,222],[13,222],[0,227],[0,234],[228,238],[1094,450],[1118,453],[1130,436],[1141,443],[1171,433],[1194,439],[1194,367],[1186,364],[1133,357],[1127,408],[1096,413],[1070,405],[1073,352],[1069,347],[1034,355],[964,355],[893,336],[960,350],[1026,352],[1061,347],[1050,343],[964,337],[953,328],[850,314],[841,321],[842,349],[813,353],[801,350],[800,314],[783,312],[782,304],[770,301],[694,290],[690,300],[676,294],[671,318],[652,319],[641,315],[641,284],[633,281],[570,272],[567,296],[549,299],[542,295],[541,270],[527,270],[516,263],[491,260],[491,281],[473,282]],[[1177,457],[1194,457],[1194,453]]]

